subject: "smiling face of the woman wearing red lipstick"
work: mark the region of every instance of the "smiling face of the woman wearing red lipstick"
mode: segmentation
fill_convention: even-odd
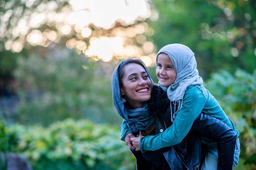
[[[142,107],[150,99],[151,81],[145,69],[139,64],[130,63],[124,67],[123,87],[120,93],[132,109]]]

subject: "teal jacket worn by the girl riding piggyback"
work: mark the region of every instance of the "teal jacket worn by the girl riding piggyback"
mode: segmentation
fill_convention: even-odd
[[[170,110],[166,111],[170,112]],[[178,111],[173,124],[163,133],[155,136],[142,137],[140,139],[141,152],[155,151],[163,147],[180,143],[188,134],[193,122],[201,112],[215,117],[227,124],[231,129],[236,131],[236,138],[238,138],[239,132],[236,130],[234,123],[225,114],[210,92],[205,89],[203,85],[191,85],[185,91],[182,108]],[[124,136],[130,132],[127,129],[128,127],[124,122],[121,140],[124,140]]]

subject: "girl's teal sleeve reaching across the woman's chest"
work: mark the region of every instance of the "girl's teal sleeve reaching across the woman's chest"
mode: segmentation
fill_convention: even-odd
[[[206,98],[202,92],[194,86],[189,86],[183,97],[182,108],[178,111],[172,126],[160,134],[142,137],[140,139],[141,152],[155,151],[180,143],[202,112],[205,102]]]

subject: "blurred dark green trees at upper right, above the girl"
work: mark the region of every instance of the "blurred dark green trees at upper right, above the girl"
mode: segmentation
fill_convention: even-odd
[[[157,21],[148,21],[157,50],[167,44],[188,46],[204,78],[220,69],[241,68],[252,73],[256,66],[255,1],[154,0]]]

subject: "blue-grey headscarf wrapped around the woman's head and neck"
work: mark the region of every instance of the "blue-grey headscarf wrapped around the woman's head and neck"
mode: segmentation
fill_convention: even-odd
[[[125,61],[125,60],[124,60]],[[155,122],[155,117],[148,111],[147,102],[143,103],[141,108],[131,109],[127,103],[123,102],[120,94],[119,80],[118,80],[118,67],[123,64],[121,61],[114,70],[112,76],[112,97],[113,103],[116,107],[119,115],[126,121],[128,127],[133,132],[138,132],[149,128]],[[146,67],[146,66],[145,66]],[[148,70],[146,70],[148,73]],[[153,87],[153,81],[151,80],[149,73],[148,78],[150,79]],[[151,88],[152,89],[152,88]]]

